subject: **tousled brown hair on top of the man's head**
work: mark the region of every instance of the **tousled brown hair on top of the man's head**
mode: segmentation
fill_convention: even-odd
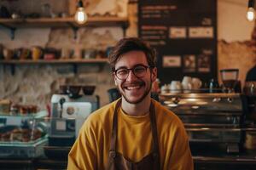
[[[155,67],[156,54],[154,48],[151,48],[148,43],[143,42],[143,40],[137,37],[126,37],[119,40],[119,42],[116,43],[116,45],[113,47],[113,50],[109,54],[108,60],[112,70],[114,70],[114,66],[122,54],[134,50],[143,51],[143,53],[146,55],[148,65]]]

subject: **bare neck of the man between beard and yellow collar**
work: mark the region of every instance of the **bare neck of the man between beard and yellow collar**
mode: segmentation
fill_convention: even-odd
[[[145,99],[143,99],[143,101],[138,104],[130,104],[124,98],[122,98],[122,109],[127,115],[143,116],[148,113],[150,103],[150,95],[148,95]]]

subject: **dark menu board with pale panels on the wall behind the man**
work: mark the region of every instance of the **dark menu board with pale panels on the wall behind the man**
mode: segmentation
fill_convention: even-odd
[[[157,51],[161,83],[217,78],[217,0],[138,1],[138,35]]]

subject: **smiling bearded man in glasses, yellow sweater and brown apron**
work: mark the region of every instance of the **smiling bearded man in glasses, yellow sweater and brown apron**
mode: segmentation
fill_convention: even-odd
[[[115,45],[109,63],[122,97],[86,119],[67,169],[193,169],[183,123],[150,97],[155,62],[154,50],[138,38]]]

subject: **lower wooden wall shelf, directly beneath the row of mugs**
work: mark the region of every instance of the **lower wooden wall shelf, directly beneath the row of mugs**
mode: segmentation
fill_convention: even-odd
[[[108,59],[10,59],[0,60],[0,64],[83,64],[83,63],[108,63]]]

